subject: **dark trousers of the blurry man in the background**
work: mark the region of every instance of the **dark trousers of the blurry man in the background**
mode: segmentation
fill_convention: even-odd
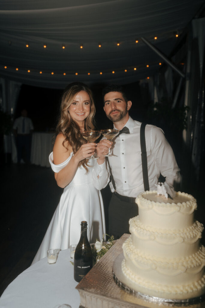
[[[31,148],[31,136],[30,135],[17,135],[17,161],[21,162],[23,158],[23,151],[25,154],[26,163],[30,162],[30,148]]]

